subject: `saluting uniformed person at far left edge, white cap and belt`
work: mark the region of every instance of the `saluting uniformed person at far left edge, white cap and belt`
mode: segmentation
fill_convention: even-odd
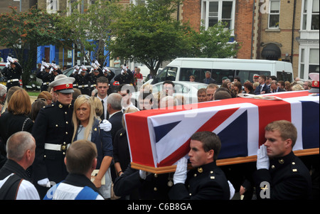
[[[6,59],[6,67],[2,70],[2,74],[7,78],[6,87],[7,90],[13,86],[20,86],[19,80],[21,79],[22,67],[18,63],[16,58],[12,58],[11,55]]]

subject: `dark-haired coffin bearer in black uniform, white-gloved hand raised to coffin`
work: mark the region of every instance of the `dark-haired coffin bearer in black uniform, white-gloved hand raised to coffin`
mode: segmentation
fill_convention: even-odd
[[[229,200],[230,187],[225,173],[216,160],[221,141],[213,132],[196,132],[191,136],[190,157],[193,169],[187,173],[187,159],[178,161],[174,173],[174,186],[169,198],[174,200]]]

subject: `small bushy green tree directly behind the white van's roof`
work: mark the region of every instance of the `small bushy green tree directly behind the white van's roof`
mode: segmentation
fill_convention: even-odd
[[[195,55],[200,58],[229,58],[238,53],[238,43],[229,43],[231,30],[226,28],[228,23],[218,22],[207,30],[201,26],[200,33],[196,34],[197,50]]]

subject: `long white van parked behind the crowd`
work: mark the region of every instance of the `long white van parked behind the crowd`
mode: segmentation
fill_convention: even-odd
[[[276,76],[277,80],[292,82],[292,64],[273,60],[242,60],[234,58],[176,58],[156,75],[152,84],[164,80],[189,81],[190,75],[196,77],[196,82],[203,82],[206,71],[218,85],[222,78],[240,77],[241,83],[252,82],[253,75]]]

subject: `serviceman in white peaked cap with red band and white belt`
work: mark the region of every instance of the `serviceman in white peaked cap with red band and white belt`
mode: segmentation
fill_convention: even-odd
[[[73,77],[61,75],[50,83],[57,102],[41,109],[33,124],[32,134],[36,139],[33,181],[41,198],[50,184],[59,183],[68,175],[63,160],[73,137],[71,102],[74,81]]]

